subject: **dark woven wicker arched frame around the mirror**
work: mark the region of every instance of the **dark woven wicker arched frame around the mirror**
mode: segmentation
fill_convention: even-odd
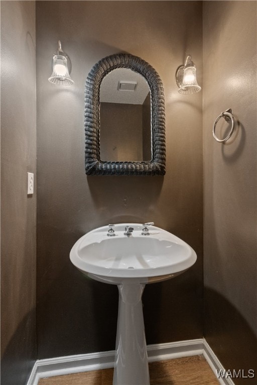
[[[100,159],[100,86],[116,68],[128,68],[142,75],[151,92],[152,160],[143,162]],[[122,129],[122,127],[121,127]],[[107,56],[96,63],[85,85],[85,167],[87,175],[164,175],[165,103],[162,81],[147,62],[130,54]]]

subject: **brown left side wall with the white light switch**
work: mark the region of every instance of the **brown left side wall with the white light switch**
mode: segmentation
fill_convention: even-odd
[[[36,359],[35,2],[1,2],[1,383],[25,385]],[[36,188],[36,186],[35,186]]]

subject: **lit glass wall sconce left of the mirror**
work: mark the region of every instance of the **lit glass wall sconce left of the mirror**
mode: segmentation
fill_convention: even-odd
[[[71,86],[74,84],[70,77],[71,62],[68,56],[63,52],[61,42],[58,42],[57,55],[53,56],[53,73],[48,79],[50,83],[59,86]]]

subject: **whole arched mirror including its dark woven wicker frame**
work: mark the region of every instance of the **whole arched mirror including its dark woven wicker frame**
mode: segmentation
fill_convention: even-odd
[[[144,60],[108,56],[85,86],[85,167],[88,175],[164,175],[162,81]]]

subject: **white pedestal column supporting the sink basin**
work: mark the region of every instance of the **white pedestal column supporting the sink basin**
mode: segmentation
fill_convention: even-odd
[[[113,385],[149,385],[142,294],[145,285],[118,285],[118,323]]]

